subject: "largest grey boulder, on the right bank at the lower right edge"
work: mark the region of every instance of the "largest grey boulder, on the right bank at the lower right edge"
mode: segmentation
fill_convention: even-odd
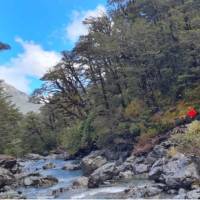
[[[188,188],[200,180],[196,164],[183,154],[169,160],[159,159],[150,169],[149,178],[174,189]]]

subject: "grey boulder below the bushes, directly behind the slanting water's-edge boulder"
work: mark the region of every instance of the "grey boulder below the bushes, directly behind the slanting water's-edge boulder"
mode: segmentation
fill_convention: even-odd
[[[81,165],[85,175],[91,174],[94,170],[101,167],[107,162],[102,156],[101,151],[94,151],[82,159]]]

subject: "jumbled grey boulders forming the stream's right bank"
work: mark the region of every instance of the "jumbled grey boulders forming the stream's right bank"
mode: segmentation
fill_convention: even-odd
[[[145,177],[141,185],[127,185],[112,198],[200,198],[199,158],[170,153],[170,141],[156,145],[146,155],[131,155],[121,162],[109,161],[103,151],[92,152],[82,159],[88,187],[97,188],[122,180]]]

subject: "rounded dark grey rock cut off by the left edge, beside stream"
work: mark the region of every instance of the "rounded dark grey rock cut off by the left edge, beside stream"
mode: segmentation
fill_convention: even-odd
[[[0,168],[0,188],[4,187],[5,185],[11,185],[15,181],[15,177],[10,171]]]

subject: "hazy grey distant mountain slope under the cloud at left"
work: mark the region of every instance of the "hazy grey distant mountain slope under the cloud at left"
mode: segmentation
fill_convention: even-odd
[[[4,81],[0,82],[0,86],[4,89],[5,93],[9,96],[10,101],[16,105],[20,112],[23,114],[31,111],[39,112],[41,105],[31,103],[27,94],[17,90],[15,87],[5,83]]]

